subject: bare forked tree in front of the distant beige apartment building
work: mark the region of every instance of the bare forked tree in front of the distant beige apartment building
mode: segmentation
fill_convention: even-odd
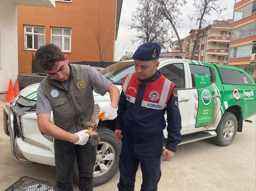
[[[194,0],[193,6],[195,7],[194,14],[188,15],[189,20],[195,26],[197,33],[195,33],[194,46],[192,50],[191,59],[195,59],[196,48],[198,47],[198,41],[202,37],[202,28],[209,25],[211,22],[210,16],[212,13],[220,15],[223,11],[227,11],[228,8],[223,6],[223,0]]]

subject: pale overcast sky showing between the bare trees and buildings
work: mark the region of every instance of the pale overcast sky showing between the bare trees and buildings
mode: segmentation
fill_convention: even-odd
[[[191,29],[190,21],[188,20],[188,14],[192,14],[193,11],[193,0],[187,0],[188,3],[182,7],[183,14],[180,16],[182,19],[180,23],[180,28],[178,29],[178,33],[180,38],[185,38],[189,35],[189,31]],[[222,19],[232,19],[233,11],[234,11],[235,0],[223,0],[223,5],[228,7],[228,11],[225,11],[221,14],[220,17],[217,14],[212,15],[212,20],[222,20]],[[139,43],[134,43],[132,45],[131,40],[135,39],[132,34],[135,34],[135,30],[128,31],[129,25],[132,24],[132,12],[136,11],[138,7],[137,0],[123,0],[121,17],[119,22],[118,35],[116,40],[116,61],[119,61],[122,55],[124,55],[125,51],[135,52],[138,48]],[[172,39],[178,40],[178,39]],[[171,51],[171,49],[169,50]]]

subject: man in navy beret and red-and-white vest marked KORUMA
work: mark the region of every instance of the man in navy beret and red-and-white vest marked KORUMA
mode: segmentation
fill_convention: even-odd
[[[169,161],[181,141],[181,117],[175,84],[157,70],[161,47],[142,44],[133,54],[135,72],[126,75],[116,118],[116,140],[122,139],[119,191],[134,190],[140,163],[141,191],[155,191],[161,177],[161,154]],[[163,150],[167,113],[168,139]],[[122,131],[124,131],[122,138]]]

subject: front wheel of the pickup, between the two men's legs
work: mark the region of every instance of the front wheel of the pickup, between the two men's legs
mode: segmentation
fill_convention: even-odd
[[[114,132],[105,127],[98,127],[100,143],[97,144],[97,156],[94,165],[93,186],[101,185],[111,178],[118,171],[121,142],[116,141]],[[79,184],[79,173],[75,158],[73,169],[73,180]]]

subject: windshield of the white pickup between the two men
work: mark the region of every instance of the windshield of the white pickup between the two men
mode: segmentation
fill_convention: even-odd
[[[122,85],[125,75],[134,71],[134,62],[117,62],[101,70],[100,73],[113,84]]]

